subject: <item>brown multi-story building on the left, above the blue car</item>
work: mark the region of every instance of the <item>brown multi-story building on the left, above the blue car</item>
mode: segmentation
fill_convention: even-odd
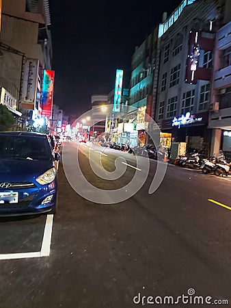
[[[43,69],[51,69],[49,25],[49,0],[2,0],[0,86],[29,120],[41,114]]]

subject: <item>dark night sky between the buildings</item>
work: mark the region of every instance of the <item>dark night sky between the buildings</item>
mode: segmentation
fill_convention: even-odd
[[[91,109],[92,94],[113,89],[116,68],[128,87],[135,46],[180,2],[50,0],[54,103],[80,116]]]

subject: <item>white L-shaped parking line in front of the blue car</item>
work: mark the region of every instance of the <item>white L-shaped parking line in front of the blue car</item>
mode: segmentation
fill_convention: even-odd
[[[44,227],[41,251],[31,253],[2,253],[0,254],[0,260],[49,257],[51,248],[52,226],[53,214],[49,214],[46,216],[46,224]]]

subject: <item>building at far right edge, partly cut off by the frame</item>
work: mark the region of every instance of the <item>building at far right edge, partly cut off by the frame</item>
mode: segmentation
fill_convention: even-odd
[[[231,156],[231,5],[229,9],[229,20],[217,31],[209,128],[211,153],[221,149]]]

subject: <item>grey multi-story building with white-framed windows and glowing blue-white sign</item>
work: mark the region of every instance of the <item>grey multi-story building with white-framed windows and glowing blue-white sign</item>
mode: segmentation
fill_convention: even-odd
[[[184,0],[159,27],[159,82],[153,118],[162,142],[187,142],[210,151],[208,114],[213,88],[215,33],[228,1]]]

